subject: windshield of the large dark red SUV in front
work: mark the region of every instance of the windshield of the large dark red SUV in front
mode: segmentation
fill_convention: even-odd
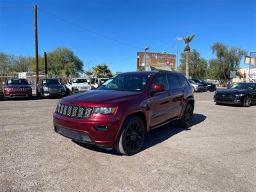
[[[127,92],[142,92],[153,75],[145,74],[121,74],[108,79],[100,90],[117,90]]]

